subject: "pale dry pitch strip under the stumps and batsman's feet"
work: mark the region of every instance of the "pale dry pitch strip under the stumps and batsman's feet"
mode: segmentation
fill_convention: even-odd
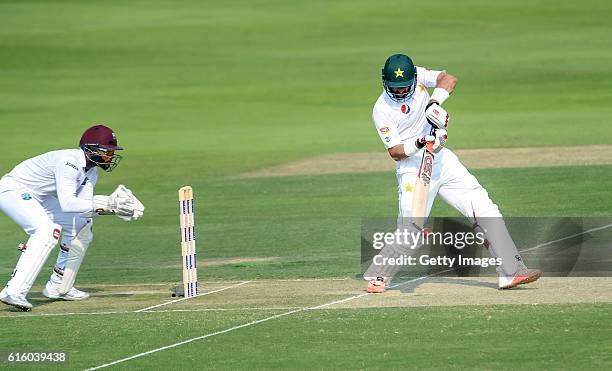
[[[428,277],[396,280],[385,294],[367,294],[357,279],[204,282],[202,295],[171,298],[166,283],[88,285],[94,295],[83,302],[49,301],[33,290],[31,313],[15,316],[79,316],[182,311],[295,311],[316,309],[418,307],[494,304],[612,303],[612,278],[543,277],[512,290],[497,290],[493,277]]]

